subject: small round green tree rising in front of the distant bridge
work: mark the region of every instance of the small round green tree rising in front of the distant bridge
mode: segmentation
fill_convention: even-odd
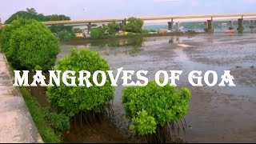
[[[141,18],[128,18],[124,29],[128,32],[142,33],[143,20]]]

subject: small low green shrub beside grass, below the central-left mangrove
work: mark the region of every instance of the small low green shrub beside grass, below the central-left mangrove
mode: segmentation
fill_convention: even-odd
[[[70,118],[65,114],[50,113],[48,119],[54,130],[58,130],[59,132],[70,130]]]

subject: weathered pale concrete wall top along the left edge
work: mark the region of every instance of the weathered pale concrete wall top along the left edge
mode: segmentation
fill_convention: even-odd
[[[42,143],[22,94],[0,52],[0,143]]]

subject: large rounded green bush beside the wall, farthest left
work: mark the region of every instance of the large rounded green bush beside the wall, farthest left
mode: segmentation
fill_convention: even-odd
[[[18,69],[34,70],[40,67],[49,70],[54,66],[59,52],[58,38],[41,22],[24,21],[28,21],[28,24],[11,31],[7,58],[11,58],[11,64]]]

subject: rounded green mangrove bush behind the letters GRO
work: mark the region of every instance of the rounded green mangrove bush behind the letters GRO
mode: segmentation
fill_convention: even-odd
[[[110,66],[100,55],[90,50],[72,50],[70,56],[58,61],[55,70],[74,70],[78,77],[79,70],[88,70],[92,75],[96,70],[110,70]],[[107,75],[107,74],[106,74]],[[101,81],[101,75],[98,75],[98,82]],[[94,111],[100,113],[109,106],[110,100],[114,98],[114,88],[111,86],[110,78],[106,77],[104,86],[66,86],[60,83],[60,86],[48,87],[47,97],[52,106],[57,107],[61,112],[73,117],[77,114]],[[89,81],[93,83],[92,76]],[[78,85],[78,79],[76,79]],[[86,85],[86,84],[85,84]]]

